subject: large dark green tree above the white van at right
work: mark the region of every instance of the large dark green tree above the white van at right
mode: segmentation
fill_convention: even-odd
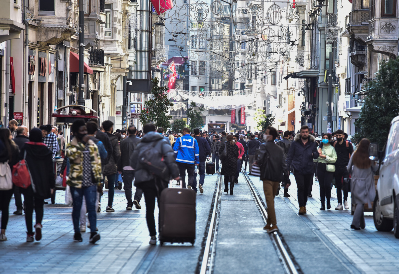
[[[355,126],[354,139],[368,138],[382,148],[391,120],[399,115],[399,59],[382,63],[376,79],[366,85],[365,102]]]

